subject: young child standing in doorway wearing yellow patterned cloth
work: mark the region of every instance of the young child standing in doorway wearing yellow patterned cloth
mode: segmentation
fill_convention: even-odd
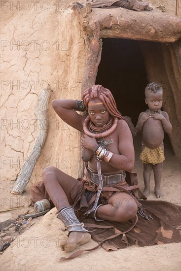
[[[162,198],[163,193],[160,189],[162,163],[165,160],[163,138],[164,131],[172,132],[172,125],[166,112],[161,111],[163,99],[163,89],[158,83],[147,84],[145,88],[145,103],[148,105],[146,112],[139,115],[136,129],[138,134],[143,134],[142,152],[140,159],[144,164],[144,183],[143,194],[148,196],[150,193],[151,170],[154,173],[155,194],[157,198]]]

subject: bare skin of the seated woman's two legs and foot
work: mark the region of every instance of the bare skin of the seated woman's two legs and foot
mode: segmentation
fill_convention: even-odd
[[[73,203],[70,192],[78,182],[76,179],[59,169],[50,167],[43,170],[43,182],[58,211]],[[134,199],[126,193],[116,193],[109,198],[108,204],[98,208],[96,216],[110,221],[124,222],[133,218],[136,213],[137,204]],[[86,232],[71,232],[69,237],[61,241],[61,246],[65,251],[70,252],[90,239],[91,235]]]

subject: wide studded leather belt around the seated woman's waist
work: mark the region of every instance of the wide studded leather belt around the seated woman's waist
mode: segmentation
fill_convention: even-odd
[[[87,171],[90,174],[90,178],[92,182],[95,184],[99,185],[99,176],[97,173],[94,173],[91,169],[87,167]],[[114,175],[103,175],[103,183],[104,185],[110,185],[113,183],[121,183],[125,180],[126,178],[126,172],[123,171],[120,174],[114,174]]]

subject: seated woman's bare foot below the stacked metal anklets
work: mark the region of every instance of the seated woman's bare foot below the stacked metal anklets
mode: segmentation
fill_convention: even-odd
[[[83,245],[90,241],[91,235],[84,232],[71,232],[69,237],[63,238],[60,242],[61,248],[66,252],[71,252],[79,245]]]

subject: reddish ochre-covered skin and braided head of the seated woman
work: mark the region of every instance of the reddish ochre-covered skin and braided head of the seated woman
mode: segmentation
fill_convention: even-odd
[[[105,130],[107,131],[106,127],[109,118],[111,118],[109,112],[116,112],[117,116],[120,118],[115,130],[111,133],[112,141],[107,146],[108,150],[112,152],[112,156],[109,162],[105,162],[104,160],[101,162],[102,174],[118,174],[124,170],[131,172],[134,167],[135,159],[131,131],[127,123],[122,119],[120,113],[116,111],[115,101],[110,96],[110,91],[103,88],[101,85],[94,85],[91,89],[91,92],[92,91],[95,93],[95,98],[88,102],[88,115],[90,116],[92,125],[95,129],[104,130],[105,127]],[[83,132],[85,117],[74,110],[75,105],[76,102],[74,100],[68,99],[54,100],[52,102],[54,110],[61,119],[64,119],[76,130]],[[110,135],[103,139],[104,141],[110,140]],[[94,172],[98,172],[96,156],[94,154],[94,149],[98,146],[96,138],[94,136],[83,135],[81,138],[81,146],[84,149],[84,153],[82,154],[84,160],[88,161],[90,169],[93,169]],[[73,187],[79,183],[78,180],[64,173],[60,169],[49,167],[43,170],[43,182],[48,195],[58,211],[63,207],[73,204],[71,191]],[[126,207],[119,204],[123,199],[127,202]],[[137,204],[129,193],[119,192],[112,194],[109,197],[107,204],[102,205],[101,208],[99,207],[96,210],[96,217],[99,219],[123,222],[133,218],[137,213],[137,209]],[[62,244],[62,246],[66,251],[72,251],[77,245],[83,244],[89,239],[90,235],[88,233],[71,232],[69,240],[66,244]]]

